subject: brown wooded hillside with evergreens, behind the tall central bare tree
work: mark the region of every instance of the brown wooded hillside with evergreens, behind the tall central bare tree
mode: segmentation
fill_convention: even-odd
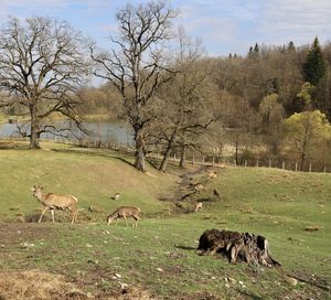
[[[156,95],[150,151],[183,160],[186,151],[190,159],[201,152],[242,165],[257,160],[278,167],[288,161],[302,170],[310,163],[321,171],[330,165],[331,43],[321,46],[318,38],[300,46],[256,43],[247,55],[228,57],[200,51],[185,63],[184,74]],[[85,114],[124,119],[121,97],[111,84],[85,88],[81,95]],[[189,119],[180,125],[183,116]]]

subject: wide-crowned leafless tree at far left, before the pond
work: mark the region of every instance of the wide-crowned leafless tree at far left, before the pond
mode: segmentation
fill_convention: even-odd
[[[0,88],[7,93],[0,106],[20,105],[29,120],[19,132],[30,138],[30,148],[40,148],[43,132],[65,135],[72,125],[82,128],[75,93],[84,83],[82,34],[65,21],[11,18],[0,31]],[[67,125],[50,124],[61,114]]]

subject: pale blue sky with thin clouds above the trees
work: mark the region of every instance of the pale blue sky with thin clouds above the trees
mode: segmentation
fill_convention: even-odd
[[[116,32],[116,11],[127,2],[143,0],[0,0],[0,25],[8,17],[51,17],[109,47],[107,36]],[[201,39],[210,56],[245,55],[249,46],[311,44],[318,36],[331,42],[331,0],[170,0],[179,10],[174,26]]]

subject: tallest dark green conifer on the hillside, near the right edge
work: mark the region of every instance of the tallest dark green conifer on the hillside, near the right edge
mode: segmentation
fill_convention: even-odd
[[[314,39],[302,67],[305,81],[312,85],[317,85],[324,76],[325,62],[318,38]]]

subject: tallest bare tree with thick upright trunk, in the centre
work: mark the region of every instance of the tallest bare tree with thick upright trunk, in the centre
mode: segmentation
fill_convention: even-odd
[[[95,75],[113,83],[121,94],[124,111],[135,135],[135,168],[143,172],[147,128],[154,118],[150,103],[172,76],[163,58],[175,15],[166,0],[128,4],[116,14],[119,35],[110,38],[114,49],[96,54],[92,46],[92,57],[98,67]]]

